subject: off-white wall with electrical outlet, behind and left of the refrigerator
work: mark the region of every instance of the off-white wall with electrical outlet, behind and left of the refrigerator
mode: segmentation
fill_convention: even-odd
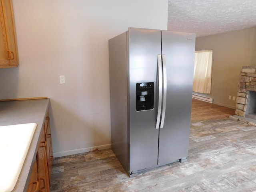
[[[110,147],[108,39],[128,27],[166,30],[168,0],[13,0],[13,6],[20,66],[0,70],[0,98],[51,99],[55,157]]]

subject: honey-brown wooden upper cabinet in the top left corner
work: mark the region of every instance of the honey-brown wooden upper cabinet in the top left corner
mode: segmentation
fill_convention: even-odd
[[[12,0],[0,0],[0,68],[17,67],[18,49]]]

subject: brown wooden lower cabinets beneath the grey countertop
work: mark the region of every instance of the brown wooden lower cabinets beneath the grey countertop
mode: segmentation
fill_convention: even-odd
[[[27,192],[50,192],[52,160],[52,137],[47,112]]]

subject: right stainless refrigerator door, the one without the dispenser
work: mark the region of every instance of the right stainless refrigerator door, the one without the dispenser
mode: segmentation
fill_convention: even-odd
[[[159,165],[188,155],[194,52],[195,34],[162,31],[162,56],[165,55],[166,62],[166,106],[165,119],[159,130]]]

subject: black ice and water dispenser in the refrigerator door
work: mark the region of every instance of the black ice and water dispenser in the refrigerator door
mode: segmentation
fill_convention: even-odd
[[[136,110],[154,108],[154,82],[136,83]]]

